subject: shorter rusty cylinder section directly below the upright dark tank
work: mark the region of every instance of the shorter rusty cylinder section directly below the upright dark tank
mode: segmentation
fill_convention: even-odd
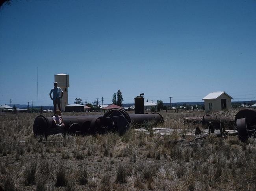
[[[160,113],[152,114],[131,114],[131,122],[134,124],[143,124],[146,122],[163,123],[163,116]]]

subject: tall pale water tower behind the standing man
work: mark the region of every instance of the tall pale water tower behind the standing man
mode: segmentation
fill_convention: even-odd
[[[63,97],[61,99],[61,109],[62,111],[65,111],[65,106],[68,105],[69,75],[56,74],[54,75],[54,81],[58,82],[58,87],[60,87],[63,91]]]

